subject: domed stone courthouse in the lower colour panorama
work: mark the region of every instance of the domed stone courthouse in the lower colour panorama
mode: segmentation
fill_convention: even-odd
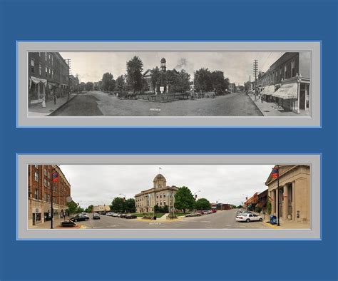
[[[155,176],[153,188],[143,190],[135,195],[135,207],[137,213],[151,213],[154,211],[155,204],[159,207],[165,205],[170,208],[174,207],[175,193],[178,187],[175,185],[167,186],[167,180],[162,174]]]

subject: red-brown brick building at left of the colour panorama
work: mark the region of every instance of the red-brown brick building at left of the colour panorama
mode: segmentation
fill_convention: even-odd
[[[53,171],[58,181],[52,180]],[[71,195],[71,185],[56,165],[28,166],[29,226],[51,219],[51,188],[53,188],[53,217],[62,218],[66,211],[66,198]]]

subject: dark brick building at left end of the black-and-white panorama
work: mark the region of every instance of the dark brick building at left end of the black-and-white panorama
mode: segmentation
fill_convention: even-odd
[[[29,52],[29,105],[68,94],[69,67],[60,53]]]

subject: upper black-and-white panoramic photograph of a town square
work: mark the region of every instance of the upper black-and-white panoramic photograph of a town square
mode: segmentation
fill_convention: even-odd
[[[36,51],[28,116],[308,117],[310,51]]]

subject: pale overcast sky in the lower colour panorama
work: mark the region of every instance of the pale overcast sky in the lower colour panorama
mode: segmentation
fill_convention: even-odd
[[[81,207],[110,205],[115,197],[133,198],[153,188],[160,171],[167,185],[188,186],[198,198],[240,205],[245,195],[262,192],[271,165],[60,165],[71,183],[71,196]],[[162,168],[159,170],[159,167]],[[244,194],[244,195],[243,195]]]

